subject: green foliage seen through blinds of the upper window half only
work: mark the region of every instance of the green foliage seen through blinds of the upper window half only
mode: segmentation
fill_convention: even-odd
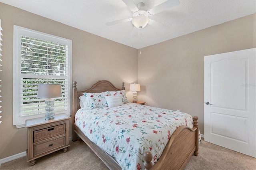
[[[63,75],[66,69],[66,45],[21,37],[21,73]]]

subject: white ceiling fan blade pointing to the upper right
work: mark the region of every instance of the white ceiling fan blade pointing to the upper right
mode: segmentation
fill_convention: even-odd
[[[177,6],[178,4],[180,4],[179,0],[167,0],[162,4],[159,4],[158,6],[155,6],[152,9],[148,10],[147,13],[148,15],[154,15],[154,14],[157,14],[158,12],[162,12],[164,10]]]

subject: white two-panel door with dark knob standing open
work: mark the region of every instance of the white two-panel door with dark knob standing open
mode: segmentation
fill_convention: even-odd
[[[256,158],[255,67],[256,48],[204,57],[204,140]]]

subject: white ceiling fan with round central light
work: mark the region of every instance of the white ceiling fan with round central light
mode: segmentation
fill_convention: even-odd
[[[134,4],[134,2],[132,0],[122,0],[122,1],[133,12],[133,16],[131,18],[126,18],[126,19],[122,19],[122,20],[107,22],[106,23],[107,26],[112,26],[112,25],[115,25],[115,24],[120,24],[120,23],[130,22],[130,21],[134,25],[134,28],[138,28],[138,29],[142,29],[145,26],[147,26],[148,24],[149,25],[163,25],[163,26],[166,26],[164,24],[156,22],[155,20],[150,19],[149,16],[152,16],[154,14],[157,14],[159,12],[162,12],[164,10],[167,10],[169,8],[172,8],[172,7],[177,6],[177,5],[180,4],[179,0],[167,0],[167,1],[163,2],[162,4],[154,6],[150,10],[146,11],[146,10],[140,10],[140,9],[144,8],[144,3],[143,2],[139,2],[136,5],[136,4]],[[168,27],[168,26],[166,26],[166,27]]]

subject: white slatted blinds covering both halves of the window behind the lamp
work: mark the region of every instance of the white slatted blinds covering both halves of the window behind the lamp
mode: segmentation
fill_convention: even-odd
[[[37,99],[38,84],[61,84],[62,97],[55,98],[55,112],[68,109],[68,47],[21,36],[21,115],[45,112],[45,99]]]

